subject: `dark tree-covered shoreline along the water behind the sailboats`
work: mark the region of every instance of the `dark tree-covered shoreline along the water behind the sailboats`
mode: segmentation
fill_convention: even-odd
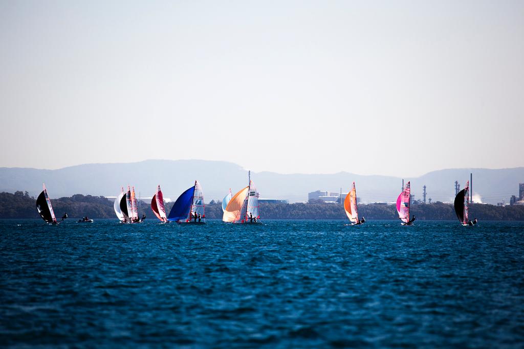
[[[67,212],[71,218],[88,216],[90,218],[115,218],[113,200],[103,196],[76,194],[51,200],[57,217]],[[173,202],[166,203],[169,213]],[[140,202],[140,215],[145,213],[148,219],[156,219],[149,202]],[[359,205],[359,216],[366,219],[397,219],[394,205],[369,204]],[[453,206],[435,202],[428,205],[412,205],[411,214],[419,220],[454,220]],[[222,218],[220,203],[211,201],[205,206],[206,218]],[[345,219],[344,208],[336,204],[260,204],[262,219]],[[479,220],[524,221],[524,206],[494,206],[472,204],[470,216]],[[39,218],[36,199],[27,192],[0,193],[0,219]]]

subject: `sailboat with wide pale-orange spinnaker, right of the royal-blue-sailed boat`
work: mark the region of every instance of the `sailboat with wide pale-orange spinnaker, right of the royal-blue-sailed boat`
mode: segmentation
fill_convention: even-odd
[[[236,193],[228,202],[222,215],[222,221],[231,223],[256,223],[260,219],[258,211],[258,193],[250,179],[249,185]]]

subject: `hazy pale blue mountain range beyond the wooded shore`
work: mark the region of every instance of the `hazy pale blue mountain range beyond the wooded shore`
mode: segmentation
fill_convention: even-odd
[[[428,198],[433,201],[452,201],[454,182],[461,188],[473,173],[473,191],[483,202],[496,204],[511,195],[518,195],[518,183],[524,182],[524,167],[488,170],[485,168],[456,168],[433,171],[411,181],[411,193],[422,199],[426,185]],[[247,171],[241,166],[222,161],[204,160],[147,160],[135,163],[85,164],[37,170],[36,168],[0,167],[0,192],[14,193],[27,190],[30,195],[40,193],[46,183],[52,198],[73,194],[116,196],[122,186],[135,186],[141,197],[151,197],[160,184],[164,196],[174,200],[198,179],[203,186],[205,200],[221,199],[229,190],[233,193],[247,185]],[[307,201],[308,193],[327,190],[347,192],[356,182],[357,196],[365,202],[394,201],[402,186],[402,179],[391,176],[363,176],[347,172],[335,174],[278,174],[252,172],[261,198]]]

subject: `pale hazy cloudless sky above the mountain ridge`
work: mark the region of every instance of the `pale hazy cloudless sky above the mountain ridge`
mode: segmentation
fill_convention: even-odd
[[[0,0],[0,166],[524,166],[524,1]]]

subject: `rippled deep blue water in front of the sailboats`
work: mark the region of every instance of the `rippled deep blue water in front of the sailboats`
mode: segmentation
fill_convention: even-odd
[[[522,347],[524,222],[0,221],[0,346]]]

